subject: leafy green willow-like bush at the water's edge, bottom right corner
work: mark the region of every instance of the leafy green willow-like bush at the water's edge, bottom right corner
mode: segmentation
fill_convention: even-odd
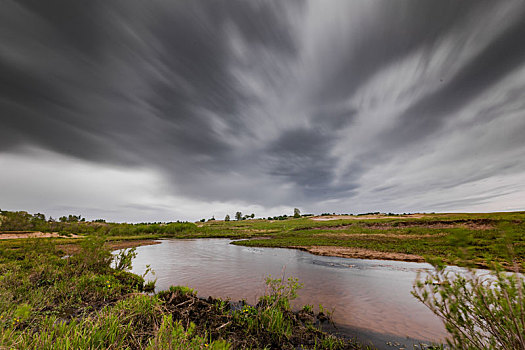
[[[412,294],[445,323],[453,349],[525,349],[525,278],[495,269],[450,272],[435,263]]]

